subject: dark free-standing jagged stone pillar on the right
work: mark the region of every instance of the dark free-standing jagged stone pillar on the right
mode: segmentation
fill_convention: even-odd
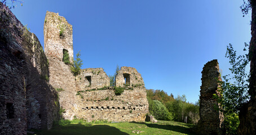
[[[213,99],[213,94],[220,96],[217,92],[219,87],[217,78],[221,80],[218,61],[209,61],[204,65],[201,79],[198,128],[202,134],[222,134],[223,114],[215,110],[219,105],[217,100]]]

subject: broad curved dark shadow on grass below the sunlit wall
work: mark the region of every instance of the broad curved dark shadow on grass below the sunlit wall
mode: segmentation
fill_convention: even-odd
[[[115,127],[111,127],[109,125],[82,125],[82,124],[69,124],[64,126],[59,126],[52,128],[51,130],[42,130],[42,131],[34,131],[35,134],[49,134],[49,135],[65,135],[65,134],[124,134],[127,133],[121,132],[119,129]]]

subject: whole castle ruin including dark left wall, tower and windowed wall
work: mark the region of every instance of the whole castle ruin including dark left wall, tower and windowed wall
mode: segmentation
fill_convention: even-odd
[[[0,2],[0,134],[51,129],[59,113],[89,122],[145,120],[147,93],[136,69],[121,68],[116,82],[124,91],[116,95],[102,68],[72,74],[73,30],[64,17],[47,11],[44,37],[45,52],[36,35]],[[65,53],[69,64],[63,61]]]

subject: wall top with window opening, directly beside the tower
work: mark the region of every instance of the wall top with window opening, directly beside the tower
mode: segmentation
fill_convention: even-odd
[[[85,91],[87,89],[96,89],[109,86],[108,75],[103,68],[82,69],[81,73],[76,77],[77,91]]]

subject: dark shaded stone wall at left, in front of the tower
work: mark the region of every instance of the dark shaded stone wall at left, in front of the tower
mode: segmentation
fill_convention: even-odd
[[[36,35],[0,3],[1,134],[27,134],[58,119],[55,90],[47,84],[48,65]]]

